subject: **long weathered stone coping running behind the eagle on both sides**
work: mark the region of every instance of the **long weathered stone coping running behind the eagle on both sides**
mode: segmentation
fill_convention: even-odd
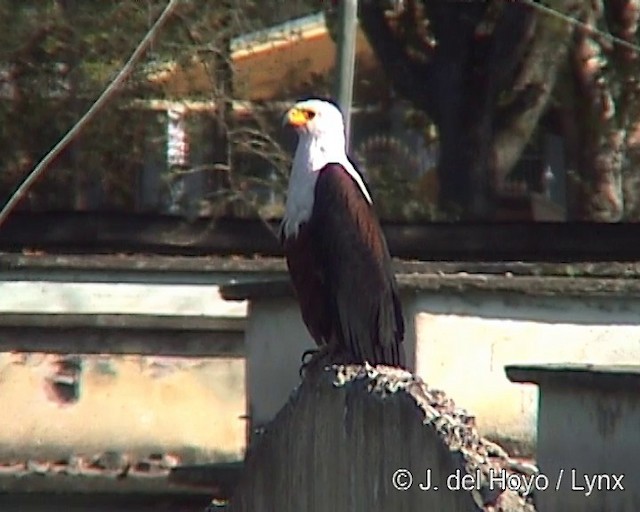
[[[514,292],[534,296],[640,297],[640,262],[450,262],[394,260],[403,291]],[[47,255],[0,253],[0,279],[77,280],[99,271],[112,282],[118,273],[153,275],[176,282],[215,273],[242,274],[242,282],[223,285],[227,300],[292,296],[283,258],[238,256]],[[66,276],[66,277],[65,277]],[[182,276],[182,277],[181,277]],[[200,280],[200,278],[198,278]]]

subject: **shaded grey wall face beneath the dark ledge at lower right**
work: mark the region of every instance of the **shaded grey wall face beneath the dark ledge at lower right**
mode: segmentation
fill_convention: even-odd
[[[539,510],[640,510],[638,388],[543,394],[538,463],[552,485],[538,493]]]

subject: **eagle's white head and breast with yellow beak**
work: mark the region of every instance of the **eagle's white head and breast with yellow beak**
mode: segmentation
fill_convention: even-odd
[[[342,165],[371,203],[367,187],[347,157],[344,120],[338,107],[321,99],[299,101],[285,114],[284,124],[298,134],[282,225],[285,237],[297,234],[300,224],[311,216],[318,172],[329,163]]]

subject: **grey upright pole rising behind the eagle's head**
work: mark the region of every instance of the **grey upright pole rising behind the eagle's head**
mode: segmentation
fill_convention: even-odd
[[[338,46],[336,61],[338,76],[336,98],[344,114],[347,151],[351,140],[351,104],[356,62],[356,34],[358,30],[358,0],[338,1]]]

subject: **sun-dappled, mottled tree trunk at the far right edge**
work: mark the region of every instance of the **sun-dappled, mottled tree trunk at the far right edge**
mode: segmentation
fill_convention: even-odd
[[[617,222],[638,213],[638,78],[635,44],[640,2],[590,2],[581,19],[588,27],[606,20],[604,39],[580,26],[571,54],[577,145],[575,215]],[[620,43],[622,41],[622,44]],[[628,43],[625,45],[624,43]]]

